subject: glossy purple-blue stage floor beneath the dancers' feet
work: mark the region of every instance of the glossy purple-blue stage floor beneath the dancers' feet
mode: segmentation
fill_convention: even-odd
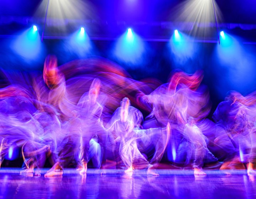
[[[206,177],[194,177],[193,171],[157,170],[158,177],[135,170],[132,178],[124,170],[89,169],[86,177],[75,169],[64,170],[63,177],[20,176],[20,169],[1,168],[1,198],[255,198],[256,176],[245,170],[205,171]],[[229,174],[226,174],[228,172]]]

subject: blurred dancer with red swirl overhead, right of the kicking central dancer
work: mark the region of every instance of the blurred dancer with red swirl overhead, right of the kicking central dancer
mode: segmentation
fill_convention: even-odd
[[[182,141],[187,118],[202,120],[209,114],[209,92],[205,86],[200,85],[202,79],[201,71],[192,75],[175,71],[169,83],[159,86],[149,95],[142,93],[137,98],[142,107],[152,107],[148,109],[151,113],[143,123],[144,128],[164,127],[167,122],[171,124],[172,136],[166,145],[168,144],[167,156],[172,156],[172,161],[175,160],[176,149]],[[161,149],[158,144],[155,146]],[[215,158],[212,161],[215,161]]]

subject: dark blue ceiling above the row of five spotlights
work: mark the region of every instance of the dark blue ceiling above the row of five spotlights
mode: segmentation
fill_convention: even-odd
[[[42,15],[39,21],[35,19],[35,13],[42,1],[47,2],[47,0],[1,0],[0,35],[13,34],[34,23],[39,26],[42,32],[44,16]],[[75,2],[79,1],[81,0],[72,0],[70,2],[75,4]],[[83,18],[83,20],[89,20],[90,24],[83,23],[86,24],[86,31],[89,31],[91,37],[117,37],[124,29],[132,25],[133,28],[139,29],[139,34],[143,37],[165,38],[170,35],[170,29],[176,29],[175,25],[166,25],[165,22],[171,22],[172,18],[174,18],[172,14],[177,12],[175,10],[177,6],[188,1],[190,0],[83,0],[82,2],[89,5],[88,7],[92,11]],[[207,1],[212,2],[212,0]],[[215,0],[215,2],[222,12],[222,24],[219,24],[220,29],[232,29],[235,34],[242,35],[250,41],[255,40],[256,1]],[[66,20],[69,19],[67,18]],[[69,33],[66,32],[66,35],[74,32],[75,29],[81,26],[81,23],[77,23],[76,27],[69,27],[69,25],[65,25],[66,29],[70,31]],[[46,34],[53,35],[56,33],[57,30],[54,28],[54,26],[46,28]],[[215,24],[210,29],[214,34],[209,37],[216,37],[217,31],[214,28]],[[65,36],[63,32],[59,35]]]

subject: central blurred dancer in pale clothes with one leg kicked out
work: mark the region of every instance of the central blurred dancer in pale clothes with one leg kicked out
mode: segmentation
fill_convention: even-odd
[[[123,98],[121,108],[117,109],[117,113],[112,118],[110,130],[116,137],[116,141],[120,141],[119,155],[126,166],[125,173],[132,175],[133,167],[148,168],[147,173],[158,175],[152,170],[153,165],[149,164],[146,158],[141,154],[137,147],[137,139],[154,134],[156,131],[161,131],[161,128],[140,130],[138,128],[140,112],[138,109],[130,106],[128,98]],[[142,114],[141,114],[142,115]],[[170,125],[165,129],[170,134]],[[147,131],[147,132],[145,132]]]

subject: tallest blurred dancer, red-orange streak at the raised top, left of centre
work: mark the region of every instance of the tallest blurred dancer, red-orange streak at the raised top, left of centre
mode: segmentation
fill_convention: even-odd
[[[75,103],[69,101],[66,93],[65,76],[57,67],[57,58],[48,55],[44,62],[43,79],[47,87],[46,95],[38,93],[38,98],[51,104],[58,113],[54,118],[58,120],[58,127],[52,131],[54,140],[55,164],[45,174],[45,177],[62,175],[63,168],[75,157],[74,149],[79,146],[80,120],[77,115]],[[38,90],[38,89],[37,89]]]

